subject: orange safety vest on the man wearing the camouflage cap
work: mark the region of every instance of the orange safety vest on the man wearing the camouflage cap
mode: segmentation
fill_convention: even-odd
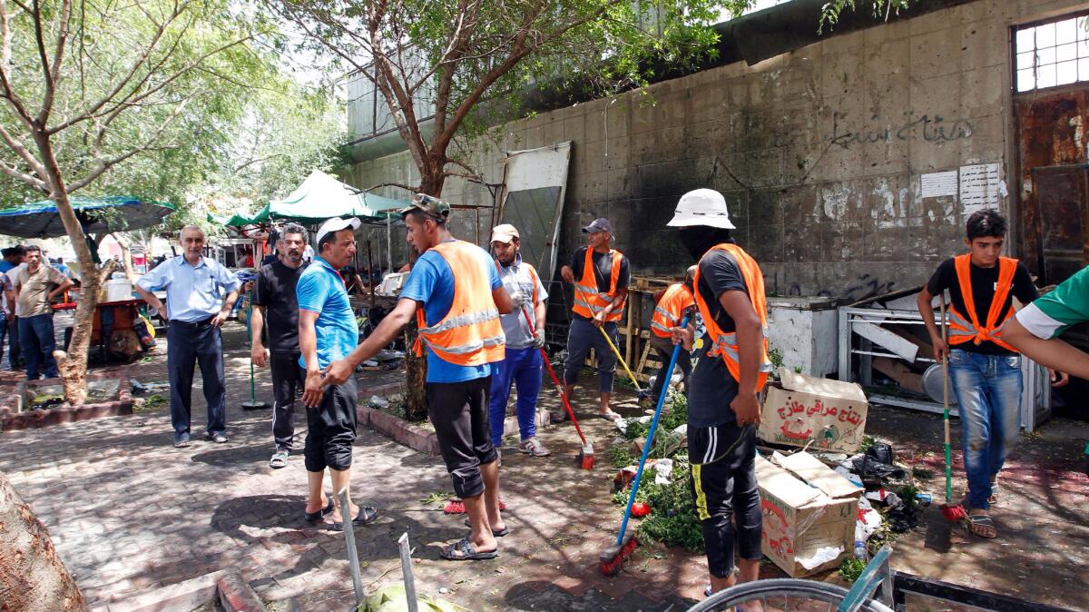
[[[416,309],[419,336],[442,358],[458,366],[479,366],[504,358],[503,327],[491,297],[491,271],[480,249],[464,241],[431,247],[454,274],[454,299],[441,321],[427,326],[424,308]],[[488,258],[490,259],[490,257]],[[416,356],[423,354],[416,343]]]

